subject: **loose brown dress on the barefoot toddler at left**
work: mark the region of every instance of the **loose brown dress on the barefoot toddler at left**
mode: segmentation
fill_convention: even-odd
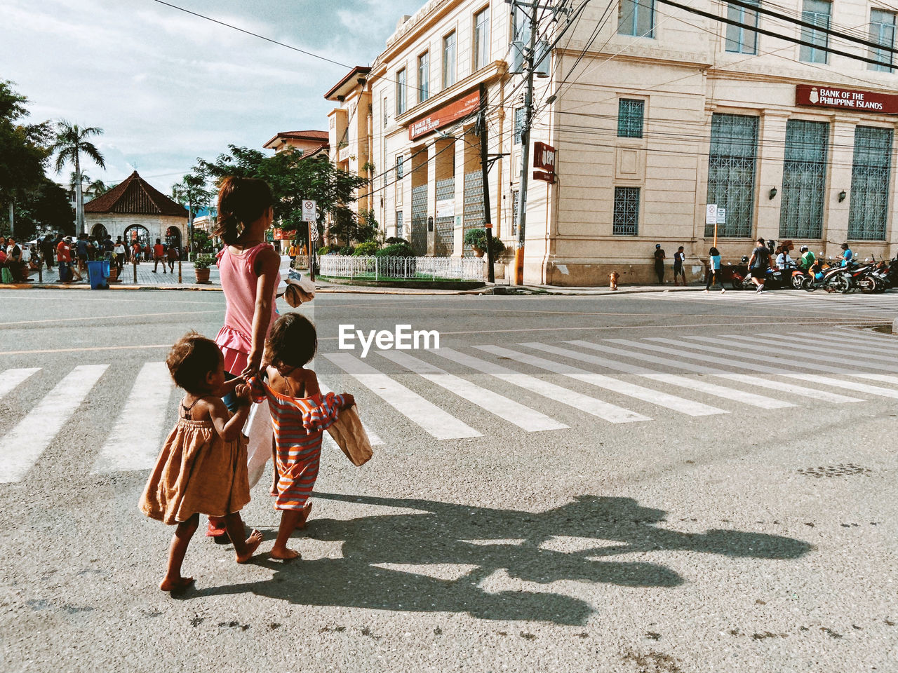
[[[140,511],[175,524],[224,517],[250,502],[246,438],[223,441],[211,421],[178,419],[140,497]]]

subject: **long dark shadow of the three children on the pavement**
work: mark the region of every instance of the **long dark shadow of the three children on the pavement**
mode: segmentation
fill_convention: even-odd
[[[342,541],[343,558],[283,564],[262,556],[255,563],[275,571],[271,580],[191,590],[180,598],[251,592],[298,605],[464,612],[482,619],[583,625],[593,612],[583,600],[541,590],[494,592],[489,586],[481,588],[480,583],[494,572],[502,572],[541,584],[575,580],[670,588],[684,580],[664,565],[605,559],[659,549],[793,559],[814,548],[793,538],[739,530],[692,534],[661,529],[656,524],[665,520],[665,511],[641,507],[632,498],[580,495],[572,503],[534,513],[405,498],[323,493],[315,497],[417,511],[312,520],[306,536]],[[541,548],[556,536],[594,538],[597,544],[586,549],[580,544],[573,552]],[[449,580],[375,564],[475,567],[461,578]]]

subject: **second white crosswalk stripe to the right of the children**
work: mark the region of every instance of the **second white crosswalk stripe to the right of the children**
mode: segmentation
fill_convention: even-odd
[[[528,433],[543,430],[563,430],[569,427],[545,414],[541,414],[535,409],[531,409],[529,406],[524,406],[492,390],[480,388],[480,386],[471,383],[469,380],[450,374],[448,371],[419,360],[417,357],[407,353],[383,351],[381,355],[394,363],[401,364],[410,371],[420,374],[421,377],[436,383],[437,386],[462,396],[471,404],[486,409],[490,414],[504,418],[509,423],[517,425]]]

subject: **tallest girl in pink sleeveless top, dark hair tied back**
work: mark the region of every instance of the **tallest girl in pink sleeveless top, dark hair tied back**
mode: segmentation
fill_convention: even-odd
[[[218,229],[225,242],[218,271],[225,292],[225,325],[216,344],[225,354],[225,377],[249,380],[259,372],[265,339],[277,318],[275,293],[280,257],[265,242],[274,219],[274,197],[264,180],[229,177],[218,190]],[[237,400],[225,397],[231,409]],[[210,519],[207,535],[224,542],[222,522]]]

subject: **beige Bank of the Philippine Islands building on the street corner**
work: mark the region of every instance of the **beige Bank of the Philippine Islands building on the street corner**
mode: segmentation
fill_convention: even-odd
[[[616,270],[621,282],[646,282],[656,243],[668,265],[683,245],[687,271],[700,275],[714,240],[708,204],[726,211],[725,260],[758,236],[828,255],[847,240],[860,257],[894,256],[890,52],[751,7],[690,6],[741,26],[618,0],[612,11],[586,4],[552,49],[550,76],[536,80],[531,140],[555,149],[556,179],[529,180],[525,280],[596,285]],[[770,9],[894,46],[895,14],[882,4]],[[481,92],[493,231],[514,244],[523,77],[509,72],[509,45],[524,21],[511,12],[504,0],[431,0],[402,18],[360,84],[371,95],[374,213],[419,254],[470,254],[463,232],[483,221],[473,133]],[[538,34],[551,41],[568,17],[545,13]]]

